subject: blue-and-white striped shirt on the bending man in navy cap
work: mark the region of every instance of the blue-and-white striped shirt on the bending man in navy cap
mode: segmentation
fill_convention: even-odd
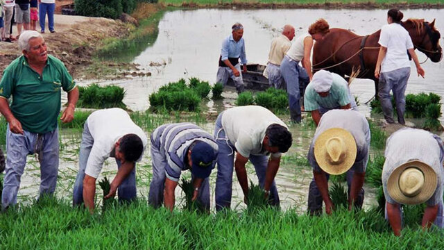
[[[185,157],[187,149],[196,140],[210,144],[217,155],[219,148],[213,136],[195,124],[187,122],[164,124],[151,133],[151,147],[159,149],[167,158],[165,174],[171,181],[179,181],[181,172],[189,169],[189,166],[185,164]],[[216,160],[212,164],[212,169],[215,165]]]

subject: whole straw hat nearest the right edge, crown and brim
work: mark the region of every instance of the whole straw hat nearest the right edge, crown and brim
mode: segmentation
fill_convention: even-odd
[[[398,203],[424,203],[436,190],[438,180],[434,169],[419,160],[397,167],[387,180],[388,194]]]

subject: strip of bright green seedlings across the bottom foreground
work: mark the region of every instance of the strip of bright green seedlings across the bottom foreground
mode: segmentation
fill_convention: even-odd
[[[375,212],[309,217],[293,210],[198,215],[146,201],[102,215],[43,200],[0,214],[1,249],[442,249],[443,232],[418,225],[396,238]]]

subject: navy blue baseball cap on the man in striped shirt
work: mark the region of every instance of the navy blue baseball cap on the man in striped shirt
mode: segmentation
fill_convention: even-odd
[[[214,160],[216,160],[216,154],[210,144],[196,142],[191,149],[191,161],[193,162],[191,174],[194,174],[196,178],[207,178],[214,167]]]

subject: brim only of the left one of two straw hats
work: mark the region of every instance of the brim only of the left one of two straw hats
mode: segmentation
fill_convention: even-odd
[[[347,151],[345,152],[345,158],[342,163],[332,165],[328,162],[327,149],[325,148],[325,144],[327,140],[333,137],[339,137],[343,140]],[[316,159],[316,163],[318,163],[319,167],[323,169],[327,174],[343,174],[350,169],[353,164],[355,164],[356,160],[356,141],[353,135],[346,131],[343,128],[330,128],[321,133],[314,142],[314,158]]]

